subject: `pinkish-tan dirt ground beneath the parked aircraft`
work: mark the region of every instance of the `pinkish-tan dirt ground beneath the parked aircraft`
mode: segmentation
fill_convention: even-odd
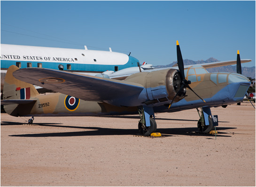
[[[156,114],[163,137],[139,137],[139,115],[1,114],[1,186],[255,186],[255,109],[212,108],[218,135],[194,134],[195,109]]]

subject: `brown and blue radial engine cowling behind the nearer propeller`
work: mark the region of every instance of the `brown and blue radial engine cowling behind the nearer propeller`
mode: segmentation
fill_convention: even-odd
[[[180,74],[176,69],[136,73],[125,80],[144,85],[147,94],[147,101],[145,103],[147,105],[172,101],[181,85]],[[182,100],[185,94],[186,88],[179,92],[175,102]]]

